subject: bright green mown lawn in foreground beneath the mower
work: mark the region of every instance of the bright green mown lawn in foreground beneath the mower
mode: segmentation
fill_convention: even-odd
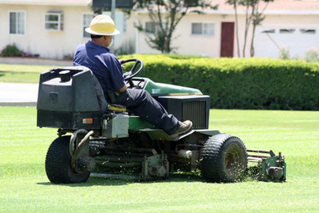
[[[319,212],[319,112],[210,111],[210,129],[240,137],[247,148],[281,151],[285,183],[208,184],[174,174],[53,185],[44,160],[56,130],[36,127],[34,107],[0,107],[0,120],[0,212]]]

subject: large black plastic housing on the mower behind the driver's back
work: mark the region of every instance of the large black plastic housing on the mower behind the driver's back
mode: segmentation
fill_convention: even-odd
[[[37,126],[98,129],[106,108],[101,85],[88,68],[53,68],[41,73]]]

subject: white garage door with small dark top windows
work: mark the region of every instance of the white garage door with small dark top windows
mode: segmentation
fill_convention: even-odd
[[[279,48],[289,48],[291,57],[304,57],[312,47],[319,47],[318,27],[265,27],[259,26],[255,33],[255,56],[279,56]]]

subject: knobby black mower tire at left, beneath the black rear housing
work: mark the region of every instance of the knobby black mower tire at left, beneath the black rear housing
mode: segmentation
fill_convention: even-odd
[[[71,167],[69,143],[71,136],[55,139],[50,145],[45,158],[45,172],[51,183],[73,184],[86,182],[90,172],[77,173]]]

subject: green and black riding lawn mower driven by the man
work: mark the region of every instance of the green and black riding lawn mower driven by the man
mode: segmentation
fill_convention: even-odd
[[[139,59],[123,63],[132,61],[124,73],[128,87],[148,91],[169,114],[192,121],[191,131],[172,138],[125,106],[109,104],[101,114],[99,99],[104,97],[96,92],[91,70],[49,69],[40,75],[37,126],[58,129],[45,159],[50,182],[83,183],[90,176],[146,181],[166,179],[176,170],[199,170],[206,182],[234,182],[242,179],[251,162],[256,179],[286,180],[281,153],[246,149],[240,138],[208,129],[209,96],[136,77],[144,65]]]

